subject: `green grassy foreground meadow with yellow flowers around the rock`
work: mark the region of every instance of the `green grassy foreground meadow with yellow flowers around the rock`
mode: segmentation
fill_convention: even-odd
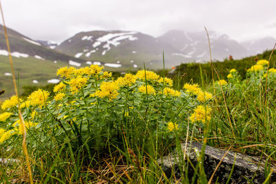
[[[19,162],[2,165],[0,182],[30,182],[19,108],[35,183],[208,183],[203,162],[193,165],[193,180],[188,178],[185,141],[263,156],[273,164],[275,56],[266,59],[252,57],[240,68],[214,63],[208,72],[208,64],[197,65],[197,81],[179,74],[179,68],[173,81],[165,70],[157,74],[146,66],[117,79],[98,65],[59,68],[61,83],[53,95],[39,89],[1,104],[0,156]],[[175,149],[180,181],[157,163]],[[199,160],[203,156],[204,149]]]

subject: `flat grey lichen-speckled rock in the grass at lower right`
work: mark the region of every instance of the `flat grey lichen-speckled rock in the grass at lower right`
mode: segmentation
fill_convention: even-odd
[[[181,145],[182,150],[184,150],[185,143]],[[201,143],[188,143],[186,157],[190,159],[193,165],[197,165],[197,156],[195,150],[199,150],[201,152]],[[219,161],[223,158],[226,150],[219,150],[215,147],[206,146],[205,156],[204,156],[204,171],[206,173],[207,178],[209,179],[215,168],[219,164]],[[226,183],[228,180],[228,176],[230,175],[230,171],[232,170],[233,163],[235,158],[235,152],[228,152],[224,157],[221,165],[219,166],[217,172],[215,172],[215,176],[213,177],[213,183],[218,181],[219,183]],[[175,177],[177,179],[181,179],[181,173],[178,169],[179,157],[177,156],[176,150],[168,155],[164,156],[163,159],[159,159],[158,163],[161,165],[163,171],[165,172],[168,178],[172,173],[172,168],[174,168]],[[187,163],[187,162],[186,162]],[[254,156],[246,156],[244,154],[237,153],[235,166],[233,170],[233,174],[230,178],[229,183],[250,183],[249,181],[253,179],[252,183],[263,183],[265,181],[265,161],[263,159],[258,159]],[[276,167],[274,165],[270,166],[270,169],[276,171]],[[191,179],[193,177],[194,170],[193,167],[189,165],[188,167],[188,177]],[[218,180],[217,180],[218,178]],[[246,180],[248,179],[248,181]],[[273,172],[270,178],[270,183],[276,182],[276,173]]]

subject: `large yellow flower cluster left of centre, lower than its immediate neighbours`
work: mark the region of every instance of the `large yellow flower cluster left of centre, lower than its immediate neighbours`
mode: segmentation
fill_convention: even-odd
[[[116,99],[119,95],[119,86],[115,82],[102,82],[99,86],[101,90],[95,92],[95,96],[100,98],[108,97],[110,100]]]

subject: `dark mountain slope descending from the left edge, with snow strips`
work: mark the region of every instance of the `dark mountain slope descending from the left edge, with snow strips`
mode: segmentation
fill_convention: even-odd
[[[46,48],[44,45],[41,45],[41,43],[34,41],[10,28],[7,28],[7,32],[10,41],[10,50],[13,57],[34,57],[50,61],[62,61],[66,64],[68,64],[69,61],[76,61],[79,63],[85,62],[82,59],[77,59],[61,52],[57,52],[57,50]],[[8,56],[3,25],[0,25],[0,55]]]

